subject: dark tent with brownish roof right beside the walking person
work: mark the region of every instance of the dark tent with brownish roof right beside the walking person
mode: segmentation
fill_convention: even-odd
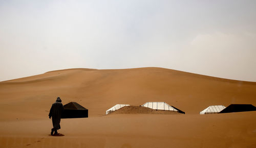
[[[70,102],[63,106],[64,111],[61,118],[87,118],[88,109],[82,107],[76,102]]]

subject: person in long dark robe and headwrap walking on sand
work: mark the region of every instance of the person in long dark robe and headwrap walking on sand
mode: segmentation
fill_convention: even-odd
[[[57,130],[60,129],[60,118],[61,118],[61,113],[64,110],[63,105],[61,103],[61,100],[59,97],[57,97],[57,100],[55,103],[52,104],[50,113],[49,113],[49,118],[51,119],[52,117],[52,131],[51,131],[51,135],[53,135],[53,131],[54,131],[54,135],[58,134]]]

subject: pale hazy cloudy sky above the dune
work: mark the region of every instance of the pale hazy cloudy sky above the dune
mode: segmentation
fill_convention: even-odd
[[[0,81],[153,66],[256,82],[256,1],[0,0]]]

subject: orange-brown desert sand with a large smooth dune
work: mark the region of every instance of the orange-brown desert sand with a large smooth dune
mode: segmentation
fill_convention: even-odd
[[[62,119],[51,104],[77,102],[89,118]],[[172,69],[66,69],[0,82],[0,147],[256,147],[256,112],[199,115],[210,105],[256,105],[256,83]],[[109,114],[116,104],[166,102],[186,114]]]

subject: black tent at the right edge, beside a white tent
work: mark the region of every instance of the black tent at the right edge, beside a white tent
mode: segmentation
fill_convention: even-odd
[[[256,107],[251,104],[230,104],[220,113],[256,111]]]

